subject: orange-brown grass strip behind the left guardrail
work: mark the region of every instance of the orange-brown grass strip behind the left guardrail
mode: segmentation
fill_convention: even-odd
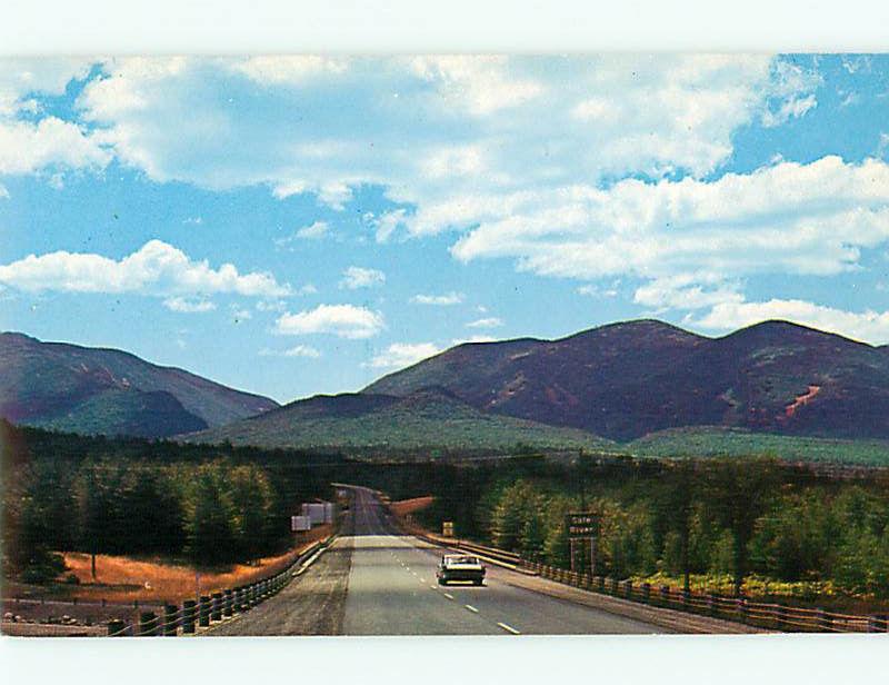
[[[267,576],[284,568],[296,556],[313,542],[327,537],[330,526],[318,526],[289,552],[259,559],[252,565],[236,564],[213,572],[200,572],[191,566],[170,563],[163,559],[136,559],[126,556],[100,554],[96,558],[97,580],[93,583],[90,572],[90,555],[68,552],[63,553],[68,565],[67,574],[73,573],[79,585],[66,585],[69,598],[108,599],[110,602],[150,603],[193,598],[199,594],[218,592],[250,580]]]

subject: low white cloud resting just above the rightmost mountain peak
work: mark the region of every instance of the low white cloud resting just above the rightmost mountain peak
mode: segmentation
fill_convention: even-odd
[[[695,324],[728,331],[767,319],[786,319],[872,344],[889,343],[889,311],[846,311],[798,299],[721,302]]]

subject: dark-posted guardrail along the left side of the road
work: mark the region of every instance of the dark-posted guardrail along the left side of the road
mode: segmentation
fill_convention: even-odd
[[[210,627],[214,623],[229,621],[233,616],[249,612],[266,599],[273,597],[281,592],[299,574],[299,568],[316,554],[330,545],[336,535],[331,535],[324,540],[313,543],[307,549],[297,555],[286,567],[276,570],[264,578],[253,580],[236,587],[221,589],[219,592],[202,595],[197,599],[186,599],[181,605],[170,603],[142,603],[138,600],[132,604],[113,605],[102,600],[99,602],[72,602],[70,604],[86,606],[94,605],[101,607],[131,606],[138,613],[138,618],[127,622],[123,619],[112,619],[107,624],[108,637],[154,637],[177,635],[194,635],[198,628]],[[19,603],[46,604],[52,600],[39,599],[10,599],[16,605]],[[57,604],[62,604],[57,602]],[[148,610],[150,608],[154,610]],[[139,610],[141,609],[141,610]],[[19,625],[19,624],[13,624]],[[21,624],[26,625],[26,624]],[[42,625],[42,624],[28,624]],[[52,624],[48,624],[52,625]]]

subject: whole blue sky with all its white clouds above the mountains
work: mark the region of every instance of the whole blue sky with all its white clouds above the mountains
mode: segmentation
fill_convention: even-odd
[[[888,296],[889,56],[0,60],[2,330],[289,401]]]

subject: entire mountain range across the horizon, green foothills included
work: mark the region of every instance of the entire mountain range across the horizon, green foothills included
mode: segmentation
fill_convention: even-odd
[[[281,407],[127,353],[20,334],[0,336],[0,416],[79,433],[406,449],[597,448],[712,427],[889,438],[889,348],[787,321],[711,338],[646,319],[463,344],[360,393]]]

